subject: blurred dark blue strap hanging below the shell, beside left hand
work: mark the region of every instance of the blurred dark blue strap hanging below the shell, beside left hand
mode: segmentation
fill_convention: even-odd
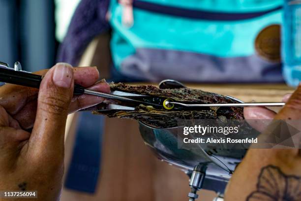
[[[104,117],[79,113],[72,159],[65,179],[65,188],[94,193],[101,160]]]

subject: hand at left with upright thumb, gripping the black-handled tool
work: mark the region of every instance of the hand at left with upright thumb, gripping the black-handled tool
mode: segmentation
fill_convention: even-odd
[[[0,191],[37,191],[38,200],[55,201],[62,185],[67,115],[104,100],[73,97],[74,82],[105,93],[110,88],[94,84],[99,78],[94,67],[57,64],[37,73],[45,74],[39,90],[0,87]]]

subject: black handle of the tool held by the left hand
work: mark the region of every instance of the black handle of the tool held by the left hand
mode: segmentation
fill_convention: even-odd
[[[0,81],[10,84],[17,84],[26,87],[40,88],[43,76],[31,74],[29,72],[15,71],[5,68],[0,68]],[[73,94],[84,94],[85,88],[75,84]]]

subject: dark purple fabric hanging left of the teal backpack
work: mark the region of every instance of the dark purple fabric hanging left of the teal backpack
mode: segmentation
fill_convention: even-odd
[[[78,65],[89,42],[96,35],[110,29],[105,17],[108,6],[109,0],[81,0],[60,44],[58,62]]]

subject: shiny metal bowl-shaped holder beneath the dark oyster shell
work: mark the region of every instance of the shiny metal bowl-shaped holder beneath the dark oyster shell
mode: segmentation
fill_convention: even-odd
[[[244,149],[179,149],[179,127],[157,129],[139,122],[139,130],[147,146],[162,161],[176,166],[191,176],[199,164],[206,164],[203,189],[223,193],[235,167],[241,162]]]

